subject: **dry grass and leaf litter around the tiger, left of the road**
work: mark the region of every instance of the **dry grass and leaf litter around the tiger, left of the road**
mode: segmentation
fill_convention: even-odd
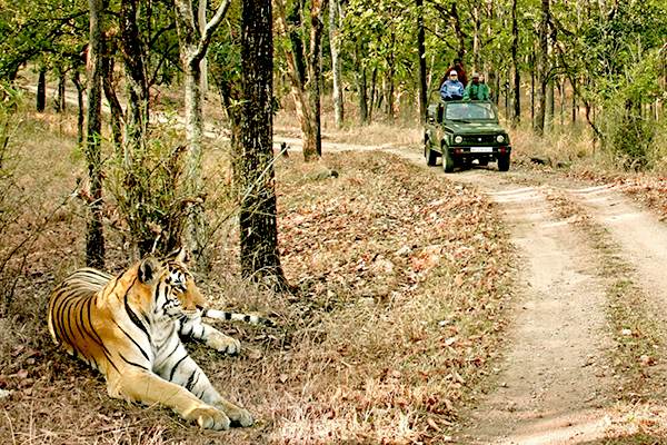
[[[30,150],[21,149],[19,164],[29,211],[16,233],[2,234],[3,245],[62,201],[82,170],[72,116],[24,118],[16,144]],[[209,150],[207,171],[228,171],[225,154]],[[240,281],[227,226],[213,240],[211,273],[198,279],[215,307],[269,314],[278,323],[222,326],[242,340],[240,357],[190,346],[221,393],[256,415],[256,426],[199,431],[163,408],[111,399],[99,375],[51,344],[48,293],[82,264],[84,220],[73,201],[30,247],[0,319],[0,389],[11,392],[0,399],[0,441],[445,441],[461,402],[489,372],[510,297],[508,240],[492,206],[386,155],[326,156],[313,165],[297,158],[277,166],[282,261],[297,293],[275,295]],[[340,176],[315,179],[322,165]],[[212,188],[226,184],[223,174],[213,179]],[[229,214],[223,191],[208,202],[211,219]],[[108,268],[118,270],[127,251],[109,235]]]

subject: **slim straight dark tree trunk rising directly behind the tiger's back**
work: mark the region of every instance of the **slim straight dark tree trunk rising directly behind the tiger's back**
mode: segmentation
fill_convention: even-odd
[[[90,215],[86,235],[86,264],[104,267],[104,236],[102,233],[102,0],[88,0],[90,8],[90,39],[88,46],[88,129],[86,160],[90,180]]]

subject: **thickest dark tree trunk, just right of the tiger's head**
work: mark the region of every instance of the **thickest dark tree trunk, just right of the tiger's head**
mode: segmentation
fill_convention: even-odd
[[[241,10],[240,135],[235,145],[235,177],[242,186],[241,274],[286,288],[278,251],[272,148],[273,40],[271,0],[243,0]]]

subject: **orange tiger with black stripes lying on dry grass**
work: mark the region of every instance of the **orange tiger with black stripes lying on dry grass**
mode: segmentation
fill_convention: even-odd
[[[201,428],[251,426],[252,415],[216,390],[181,337],[238,354],[240,343],[205,324],[202,316],[271,323],[207,308],[186,260],[186,250],[179,249],[161,260],[148,256],[117,277],[76,270],[51,293],[49,333],[104,376],[113,398],[166,405]]]

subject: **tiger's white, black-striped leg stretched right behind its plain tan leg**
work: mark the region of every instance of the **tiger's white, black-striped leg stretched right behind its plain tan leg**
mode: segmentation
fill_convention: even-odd
[[[218,393],[182,345],[156,369],[165,379],[182,386],[198,399],[222,411],[233,424],[250,426],[255,423],[247,409],[228,402]]]

